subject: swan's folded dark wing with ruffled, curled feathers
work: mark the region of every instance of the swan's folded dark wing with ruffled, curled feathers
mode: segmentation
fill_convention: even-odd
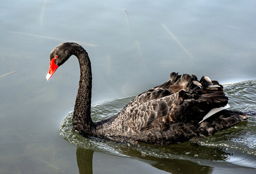
[[[227,104],[223,87],[203,76],[171,73],[170,80],[131,101],[127,123],[136,130],[169,129],[172,123],[200,120],[213,108]],[[197,123],[198,123],[197,122]]]

